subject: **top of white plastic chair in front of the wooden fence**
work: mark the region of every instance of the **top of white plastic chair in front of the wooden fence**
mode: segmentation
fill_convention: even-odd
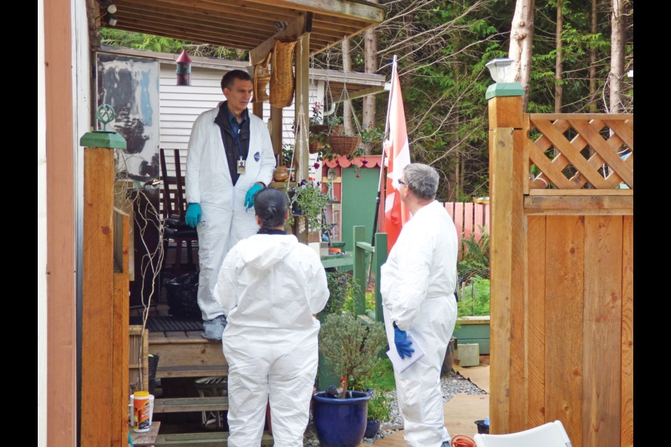
[[[477,447],[572,447],[568,434],[559,420],[524,432],[476,434],[473,440]]]

